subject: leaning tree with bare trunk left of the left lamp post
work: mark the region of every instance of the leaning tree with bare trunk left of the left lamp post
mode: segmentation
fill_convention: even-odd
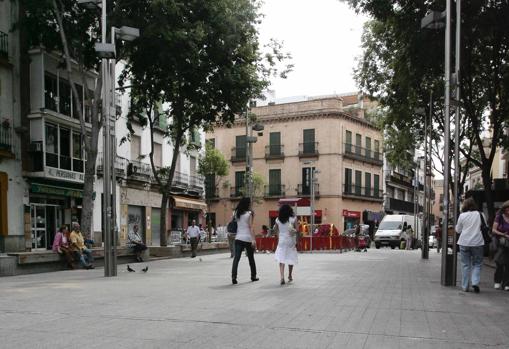
[[[83,208],[81,226],[83,231],[92,232],[94,209],[93,193],[95,183],[95,166],[98,153],[99,132],[103,125],[101,117],[102,76],[99,60],[94,51],[94,43],[98,40],[99,27],[97,13],[85,11],[78,7],[76,0],[24,0],[20,2],[19,26],[28,38],[22,47],[21,56],[26,57],[28,49],[43,46],[48,51],[61,55],[62,66],[65,67],[69,80],[73,103],[78,113],[83,147],[86,153],[85,177],[83,185]],[[26,58],[24,58],[26,59]],[[81,81],[73,78],[73,63]],[[75,68],[76,70],[76,68]],[[99,72],[95,90],[90,93],[87,88],[86,76],[90,70]],[[82,98],[78,94],[76,84],[81,84],[85,91],[84,103],[90,106],[90,129],[86,127],[83,115]]]

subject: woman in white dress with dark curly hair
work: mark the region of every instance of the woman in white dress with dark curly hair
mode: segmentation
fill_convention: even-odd
[[[288,282],[293,281],[293,266],[297,264],[297,218],[289,205],[279,208],[275,231],[279,238],[276,249],[276,261],[279,262],[281,285],[285,284],[285,265],[288,264]]]

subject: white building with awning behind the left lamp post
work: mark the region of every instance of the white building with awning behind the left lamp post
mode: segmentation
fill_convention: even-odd
[[[122,64],[119,63],[117,71],[120,72]],[[127,128],[127,113],[130,108],[129,90],[117,93],[117,108],[120,117],[115,123],[116,154],[115,174],[117,176],[116,212],[118,217],[117,227],[119,231],[119,243],[125,244],[127,234],[136,224],[138,233],[148,245],[160,245],[161,224],[161,199],[159,187],[154,178],[150,164],[149,153],[151,151],[151,135],[148,126],[142,127],[138,122],[132,123],[134,133],[129,141],[121,142],[121,139],[129,134]],[[173,146],[168,138],[164,137],[166,119],[161,118],[154,133],[154,164],[156,168],[171,165]],[[197,131],[188,134],[189,143],[200,146],[203,141]],[[99,149],[102,147],[100,137]],[[175,175],[171,194],[173,195],[172,207],[166,213],[166,227],[168,236],[170,231],[181,231],[187,228],[188,222],[195,219],[204,223],[206,204],[203,199],[203,178],[198,175],[197,150],[186,151],[181,149],[177,159]],[[103,193],[103,152],[97,159],[96,192]],[[94,206],[94,231],[96,240],[101,241],[104,219],[102,208],[98,202]],[[169,240],[168,240],[169,241]]]

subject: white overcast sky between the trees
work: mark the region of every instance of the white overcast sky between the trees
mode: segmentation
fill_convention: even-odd
[[[282,41],[295,65],[287,79],[273,81],[276,98],[357,90],[353,68],[366,17],[340,0],[265,0],[261,12],[261,42]]]

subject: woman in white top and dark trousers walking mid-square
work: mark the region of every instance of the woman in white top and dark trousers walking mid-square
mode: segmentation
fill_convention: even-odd
[[[237,284],[237,269],[239,267],[242,251],[245,249],[251,269],[251,281],[258,281],[256,276],[256,263],[254,260],[254,249],[256,239],[253,230],[253,212],[251,212],[251,200],[242,198],[235,209],[237,220],[237,234],[235,236],[235,257],[232,265],[232,283]]]

